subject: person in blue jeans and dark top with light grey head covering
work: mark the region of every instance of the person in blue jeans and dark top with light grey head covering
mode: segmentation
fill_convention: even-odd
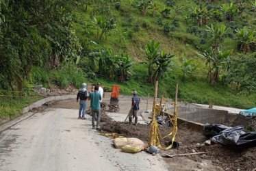
[[[86,119],[84,117],[84,115],[86,114],[86,101],[87,101],[87,90],[86,90],[86,83],[82,83],[81,84],[82,88],[79,89],[78,93],[77,93],[77,102],[78,102],[78,99],[80,98],[80,101],[79,101],[79,113],[78,113],[78,118],[79,119]],[[83,113],[82,113],[82,116],[81,116],[81,111],[83,110]]]

